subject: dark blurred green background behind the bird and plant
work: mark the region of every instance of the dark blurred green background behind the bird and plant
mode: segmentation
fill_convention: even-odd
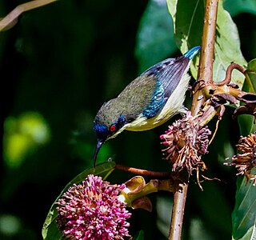
[[[23,2],[1,0],[0,16]],[[42,239],[51,203],[67,182],[92,166],[93,120],[99,107],[148,67],[143,51],[152,64],[180,54],[171,38],[169,50],[161,50],[161,39],[143,49],[142,38],[158,38],[154,31],[142,33],[149,8],[146,0],[62,0],[22,14],[12,29],[0,33],[0,239]],[[246,9],[246,1],[245,10],[236,11],[229,2],[226,8],[238,26],[242,53],[249,62],[256,56],[255,13]],[[158,13],[165,14],[168,24],[163,28],[170,27],[171,34],[167,9]],[[236,178],[222,162],[234,153],[239,132],[237,121],[230,122],[232,111],[227,113],[217,136],[222,142],[210,146],[206,162],[210,169],[206,176],[222,182],[203,182],[202,192],[191,179],[184,239],[231,236]],[[98,162],[113,158],[148,170],[170,168],[162,160],[159,139],[167,126],[118,135],[102,147]],[[132,176],[116,170],[109,180],[121,183]],[[145,239],[165,239],[171,194],[152,194],[150,199],[156,205],[153,213],[133,211],[130,234],[143,229]]]

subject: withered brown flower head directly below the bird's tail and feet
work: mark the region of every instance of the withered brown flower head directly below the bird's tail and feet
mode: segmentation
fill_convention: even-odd
[[[169,126],[169,130],[160,136],[164,140],[166,149],[162,150],[173,163],[173,171],[186,168],[189,174],[193,170],[205,170],[206,165],[201,160],[202,154],[207,154],[209,144],[208,135],[211,132],[208,127],[202,127],[198,123],[198,117],[193,117],[190,111],[182,119]]]

